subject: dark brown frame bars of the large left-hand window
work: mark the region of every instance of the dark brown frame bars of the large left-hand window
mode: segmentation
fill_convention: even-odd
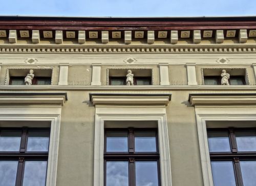
[[[17,174],[16,174],[16,182],[15,186],[21,186],[23,184],[23,177],[25,171],[25,161],[48,161],[49,149],[46,152],[28,152],[28,131],[31,130],[41,130],[41,131],[49,131],[50,128],[34,128],[34,127],[0,127],[0,134],[2,130],[20,130],[22,131],[22,136],[20,139],[20,147],[19,151],[0,151],[0,161],[10,161],[16,160],[18,161]],[[49,138],[50,143],[50,138]],[[46,175],[47,176],[47,175]]]

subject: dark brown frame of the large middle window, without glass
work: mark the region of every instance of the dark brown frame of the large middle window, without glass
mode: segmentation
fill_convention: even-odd
[[[106,132],[118,131],[127,132],[128,151],[127,152],[106,152]],[[156,132],[156,152],[135,152],[135,131]],[[104,130],[104,186],[106,186],[106,162],[107,161],[129,161],[129,186],[136,186],[135,162],[157,161],[158,185],[161,185],[160,154],[157,128],[105,128]]]

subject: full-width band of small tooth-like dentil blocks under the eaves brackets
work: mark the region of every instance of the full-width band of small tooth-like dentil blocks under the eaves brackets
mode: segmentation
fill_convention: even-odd
[[[177,46],[177,47],[166,47],[166,46],[156,46],[156,47],[0,47],[0,53],[219,53],[219,52],[228,52],[228,53],[237,53],[237,52],[256,52],[256,46],[253,45],[244,45],[244,46]]]

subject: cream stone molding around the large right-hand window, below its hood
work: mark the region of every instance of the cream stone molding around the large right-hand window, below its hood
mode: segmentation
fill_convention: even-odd
[[[221,107],[221,105],[209,105],[208,107],[204,105],[196,105],[195,111],[204,185],[214,186],[211,172],[206,122],[215,121],[218,123],[220,121],[241,121],[241,124],[244,126],[245,121],[256,121],[256,107],[255,104],[251,105],[250,108],[248,108],[248,105],[226,105],[225,107]]]

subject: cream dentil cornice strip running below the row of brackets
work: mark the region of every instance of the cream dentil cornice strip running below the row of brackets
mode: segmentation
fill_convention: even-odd
[[[2,44],[0,54],[215,54],[215,53],[255,53],[256,44],[144,44],[144,45],[31,45]]]

